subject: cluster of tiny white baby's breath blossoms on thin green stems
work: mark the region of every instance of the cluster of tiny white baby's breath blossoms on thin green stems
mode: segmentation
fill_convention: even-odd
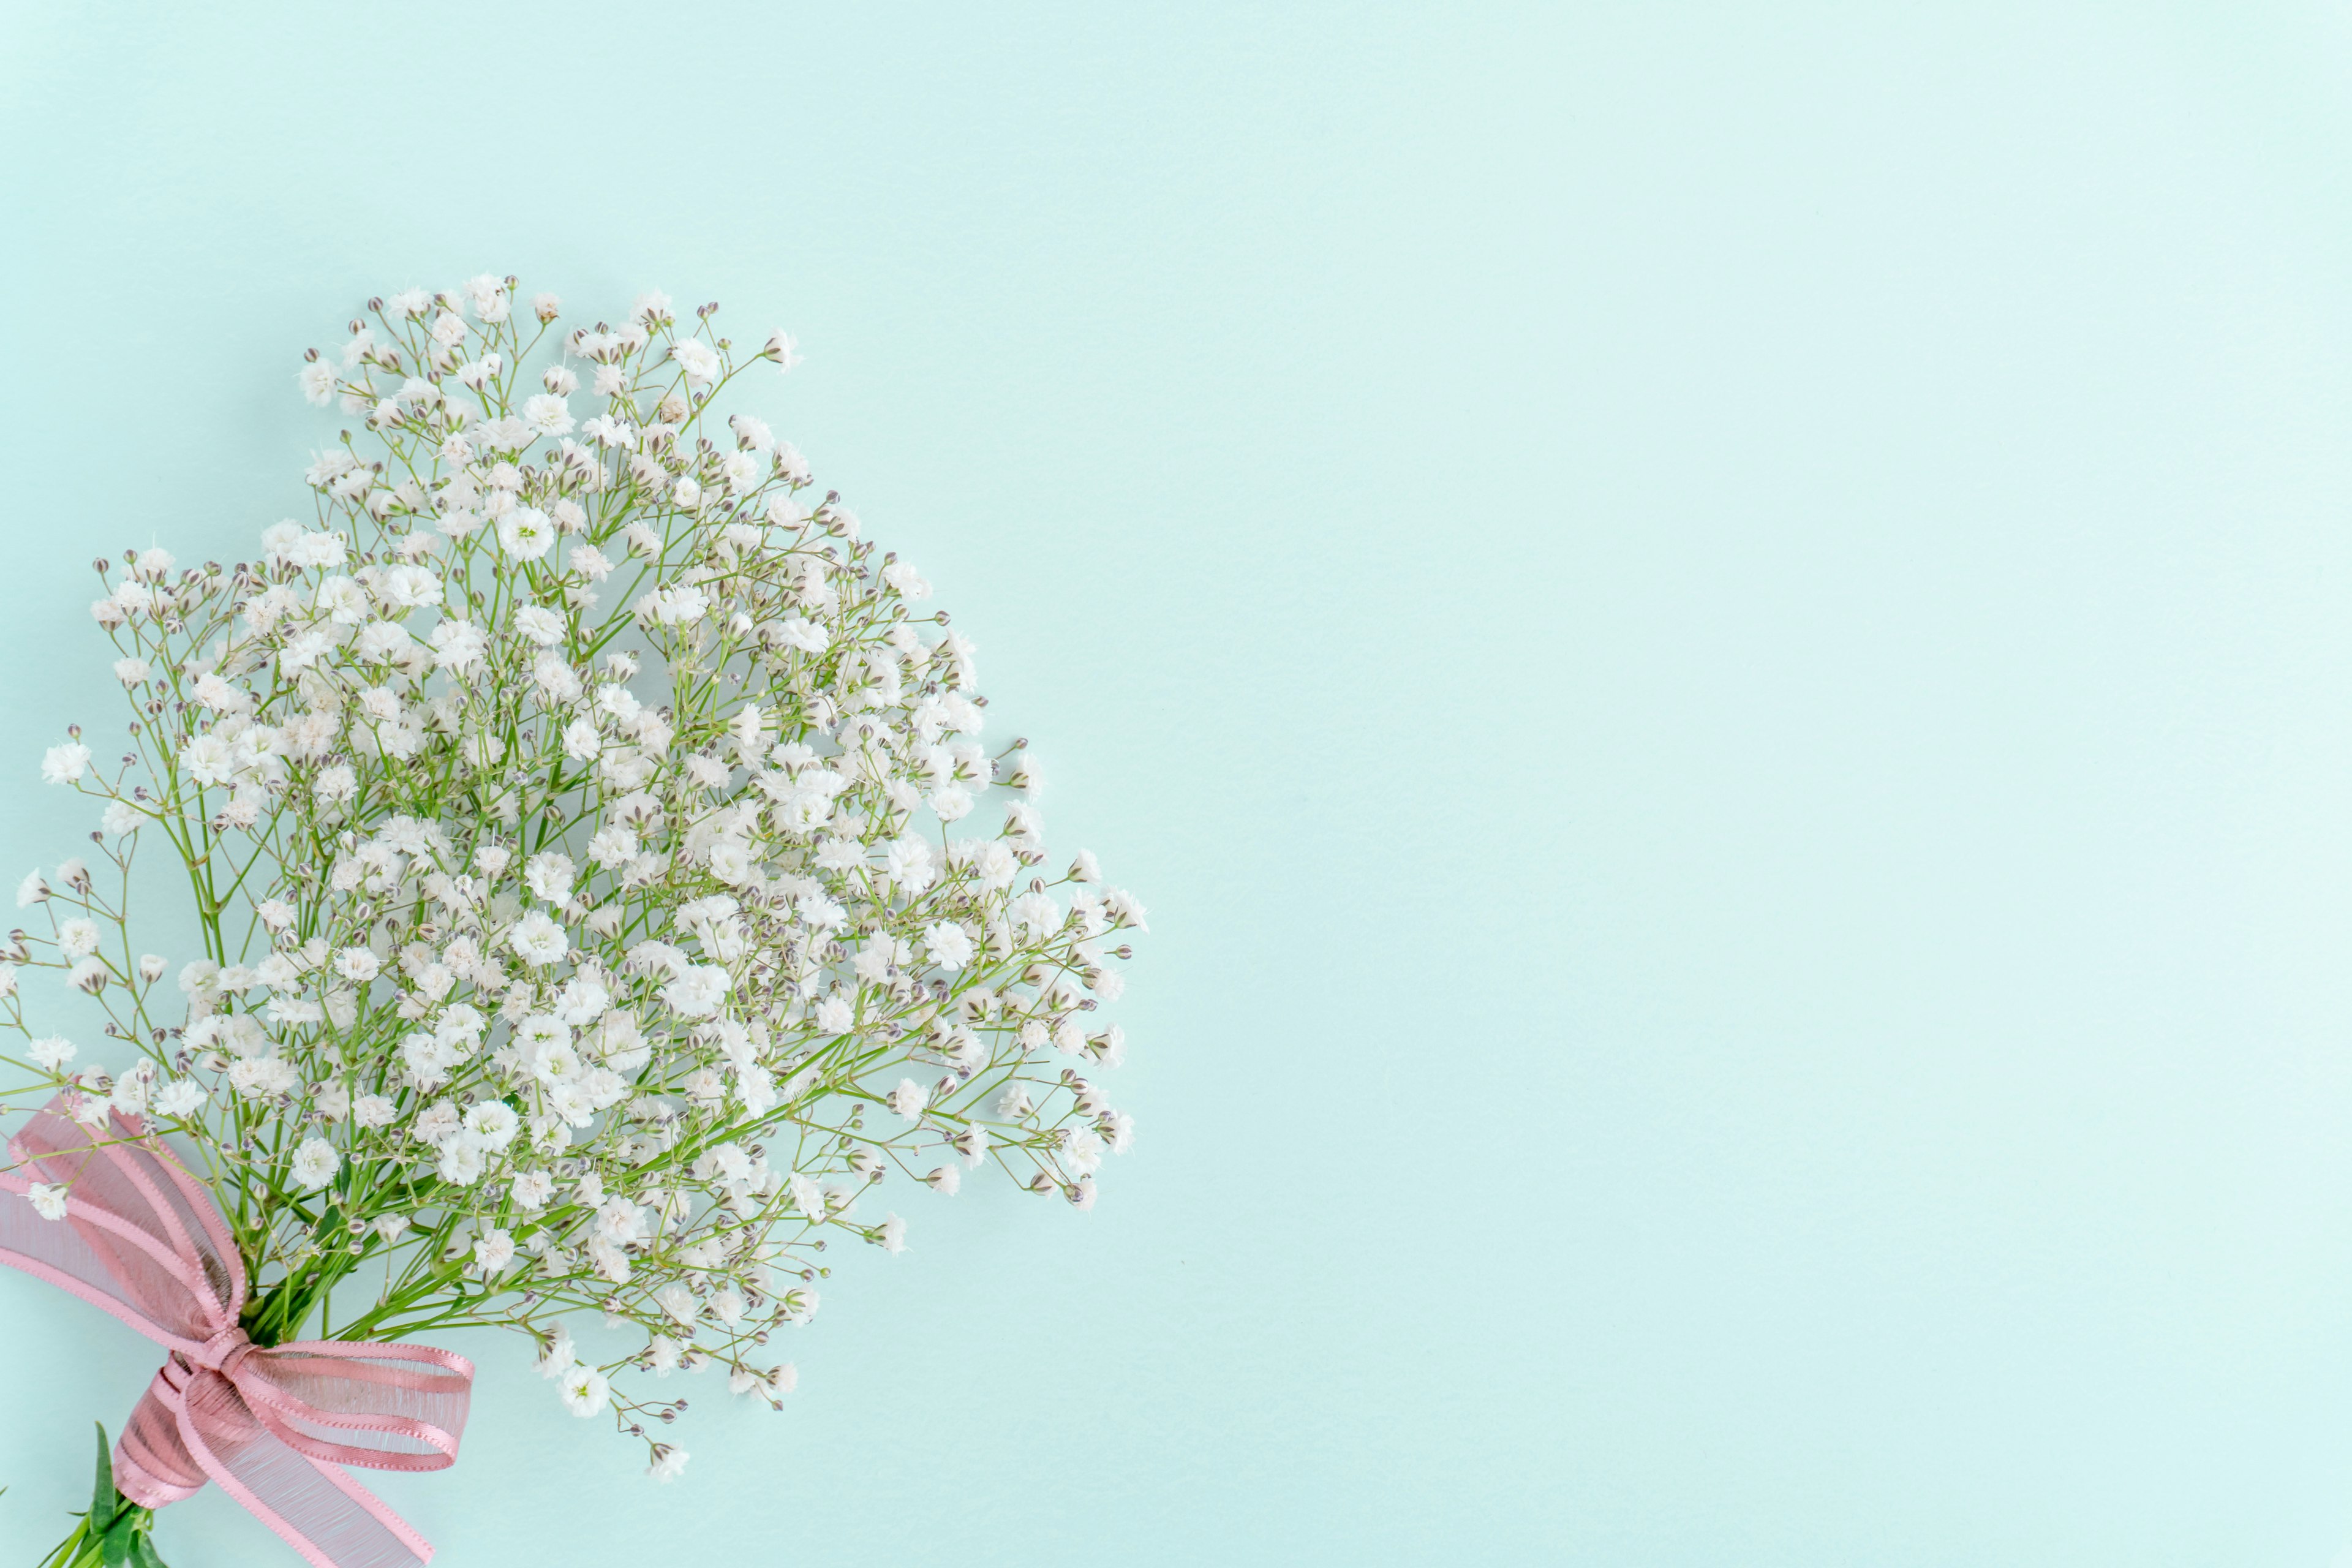
[[[28,877],[49,931],[0,964],[19,1095],[183,1138],[256,1340],[522,1328],[663,1479],[649,1422],[684,1401],[633,1375],[781,1399],[767,1347],[828,1241],[906,1244],[873,1187],[997,1166],[1094,1204],[1134,1138],[1098,1009],[1143,931],[1094,856],[1047,863],[1037,766],[981,741],[931,585],[769,425],[720,423],[795,353],[713,313],[560,329],[475,277],[313,350],[301,390],[362,423],[313,520],[233,569],[99,562],[129,750],[75,731],[42,773],[106,802],[108,886]],[[195,961],[134,957],[108,889],[141,835],[188,870]],[[35,1037],[21,966],[134,1058]],[[642,1345],[583,1359],[581,1309]]]

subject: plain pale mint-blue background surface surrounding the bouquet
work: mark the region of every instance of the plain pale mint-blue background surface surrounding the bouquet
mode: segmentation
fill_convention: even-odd
[[[327,12],[7,5],[0,867],[87,559],[499,268],[795,329],[1155,924],[1096,1213],[666,1490],[492,1347],[447,1568],[2343,1561],[2345,7]],[[153,1359],[0,1324],[26,1561]]]

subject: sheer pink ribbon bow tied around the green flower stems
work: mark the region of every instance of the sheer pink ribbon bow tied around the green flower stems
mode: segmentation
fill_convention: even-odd
[[[111,1143],[49,1100],[0,1171],[0,1265],[73,1291],[172,1354],[115,1443],[115,1488],[160,1509],[219,1481],[313,1568],[419,1568],[433,1544],[343,1465],[447,1469],[473,1361],[428,1345],[254,1345],[245,1262],[205,1187],[136,1117]],[[26,1190],[68,1187],[45,1220]]]

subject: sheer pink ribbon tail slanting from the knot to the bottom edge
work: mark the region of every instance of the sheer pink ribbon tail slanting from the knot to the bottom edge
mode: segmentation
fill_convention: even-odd
[[[195,1465],[310,1568],[423,1568],[433,1561],[433,1542],[343,1467],[287,1448],[252,1418],[226,1378],[198,1373],[176,1415]]]

